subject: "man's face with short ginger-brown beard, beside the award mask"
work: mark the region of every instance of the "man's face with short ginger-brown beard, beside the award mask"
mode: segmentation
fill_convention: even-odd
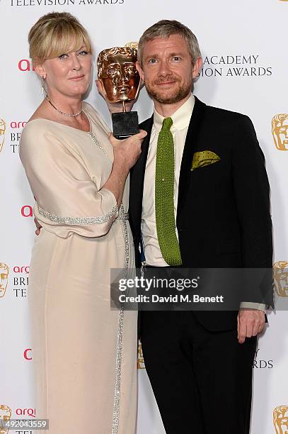
[[[156,38],[144,45],[142,66],[137,62],[146,90],[161,104],[174,104],[192,91],[199,65],[192,65],[186,41],[180,35]]]

